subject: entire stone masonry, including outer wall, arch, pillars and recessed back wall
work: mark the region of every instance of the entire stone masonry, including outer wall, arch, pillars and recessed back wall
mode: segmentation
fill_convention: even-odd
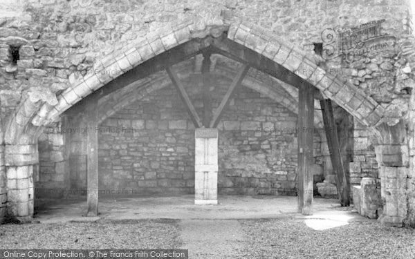
[[[411,1],[3,2],[1,219],[30,220],[36,193],[86,188],[86,135],[67,131],[86,123],[83,113],[70,114],[75,104],[175,46],[225,37],[308,80],[335,102],[338,114],[346,112],[352,134],[341,133],[347,136],[341,146],[350,183],[371,178],[365,181],[379,190],[382,209],[372,211],[380,222],[414,226]],[[327,32],[353,34],[372,21],[382,21],[382,37],[362,38],[364,48],[358,42],[347,53],[328,55],[339,50],[339,39],[328,41]],[[222,55],[211,61],[217,108],[238,65]],[[202,114],[201,55],[174,69]],[[297,137],[289,129],[297,125],[298,90],[274,77],[251,68],[219,123],[219,195],[297,193]],[[100,131],[100,188],[136,195],[194,192],[194,126],[165,72],[100,99],[98,117],[100,128],[131,129]],[[346,124],[342,117],[339,125]],[[314,121],[322,128],[318,102]],[[324,181],[318,184],[324,195],[335,182],[324,133],[315,133],[313,149],[314,182]]]

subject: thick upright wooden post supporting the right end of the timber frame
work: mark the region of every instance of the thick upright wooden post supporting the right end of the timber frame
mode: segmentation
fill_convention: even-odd
[[[298,97],[298,212],[313,214],[314,88],[300,84]]]

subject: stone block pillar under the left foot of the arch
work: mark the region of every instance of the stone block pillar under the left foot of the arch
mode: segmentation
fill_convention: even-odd
[[[25,138],[22,137],[21,143]],[[33,168],[39,163],[37,144],[6,145],[5,162],[8,189],[8,214],[20,221],[33,216]]]

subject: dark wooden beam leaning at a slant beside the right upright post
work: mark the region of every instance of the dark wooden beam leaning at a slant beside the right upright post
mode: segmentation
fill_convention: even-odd
[[[330,99],[320,101],[322,108],[324,129],[326,131],[327,145],[329,146],[331,164],[335,171],[335,185],[338,191],[338,198],[342,206],[350,205],[349,198],[349,181],[344,171],[342,161],[342,153],[340,151],[340,142],[338,138],[338,130],[333,115],[333,106]]]

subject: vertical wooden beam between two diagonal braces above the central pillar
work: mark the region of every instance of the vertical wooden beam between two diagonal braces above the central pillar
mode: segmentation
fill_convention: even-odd
[[[209,127],[212,116],[212,97],[210,95],[210,52],[203,52],[202,78],[203,78],[203,126]]]

